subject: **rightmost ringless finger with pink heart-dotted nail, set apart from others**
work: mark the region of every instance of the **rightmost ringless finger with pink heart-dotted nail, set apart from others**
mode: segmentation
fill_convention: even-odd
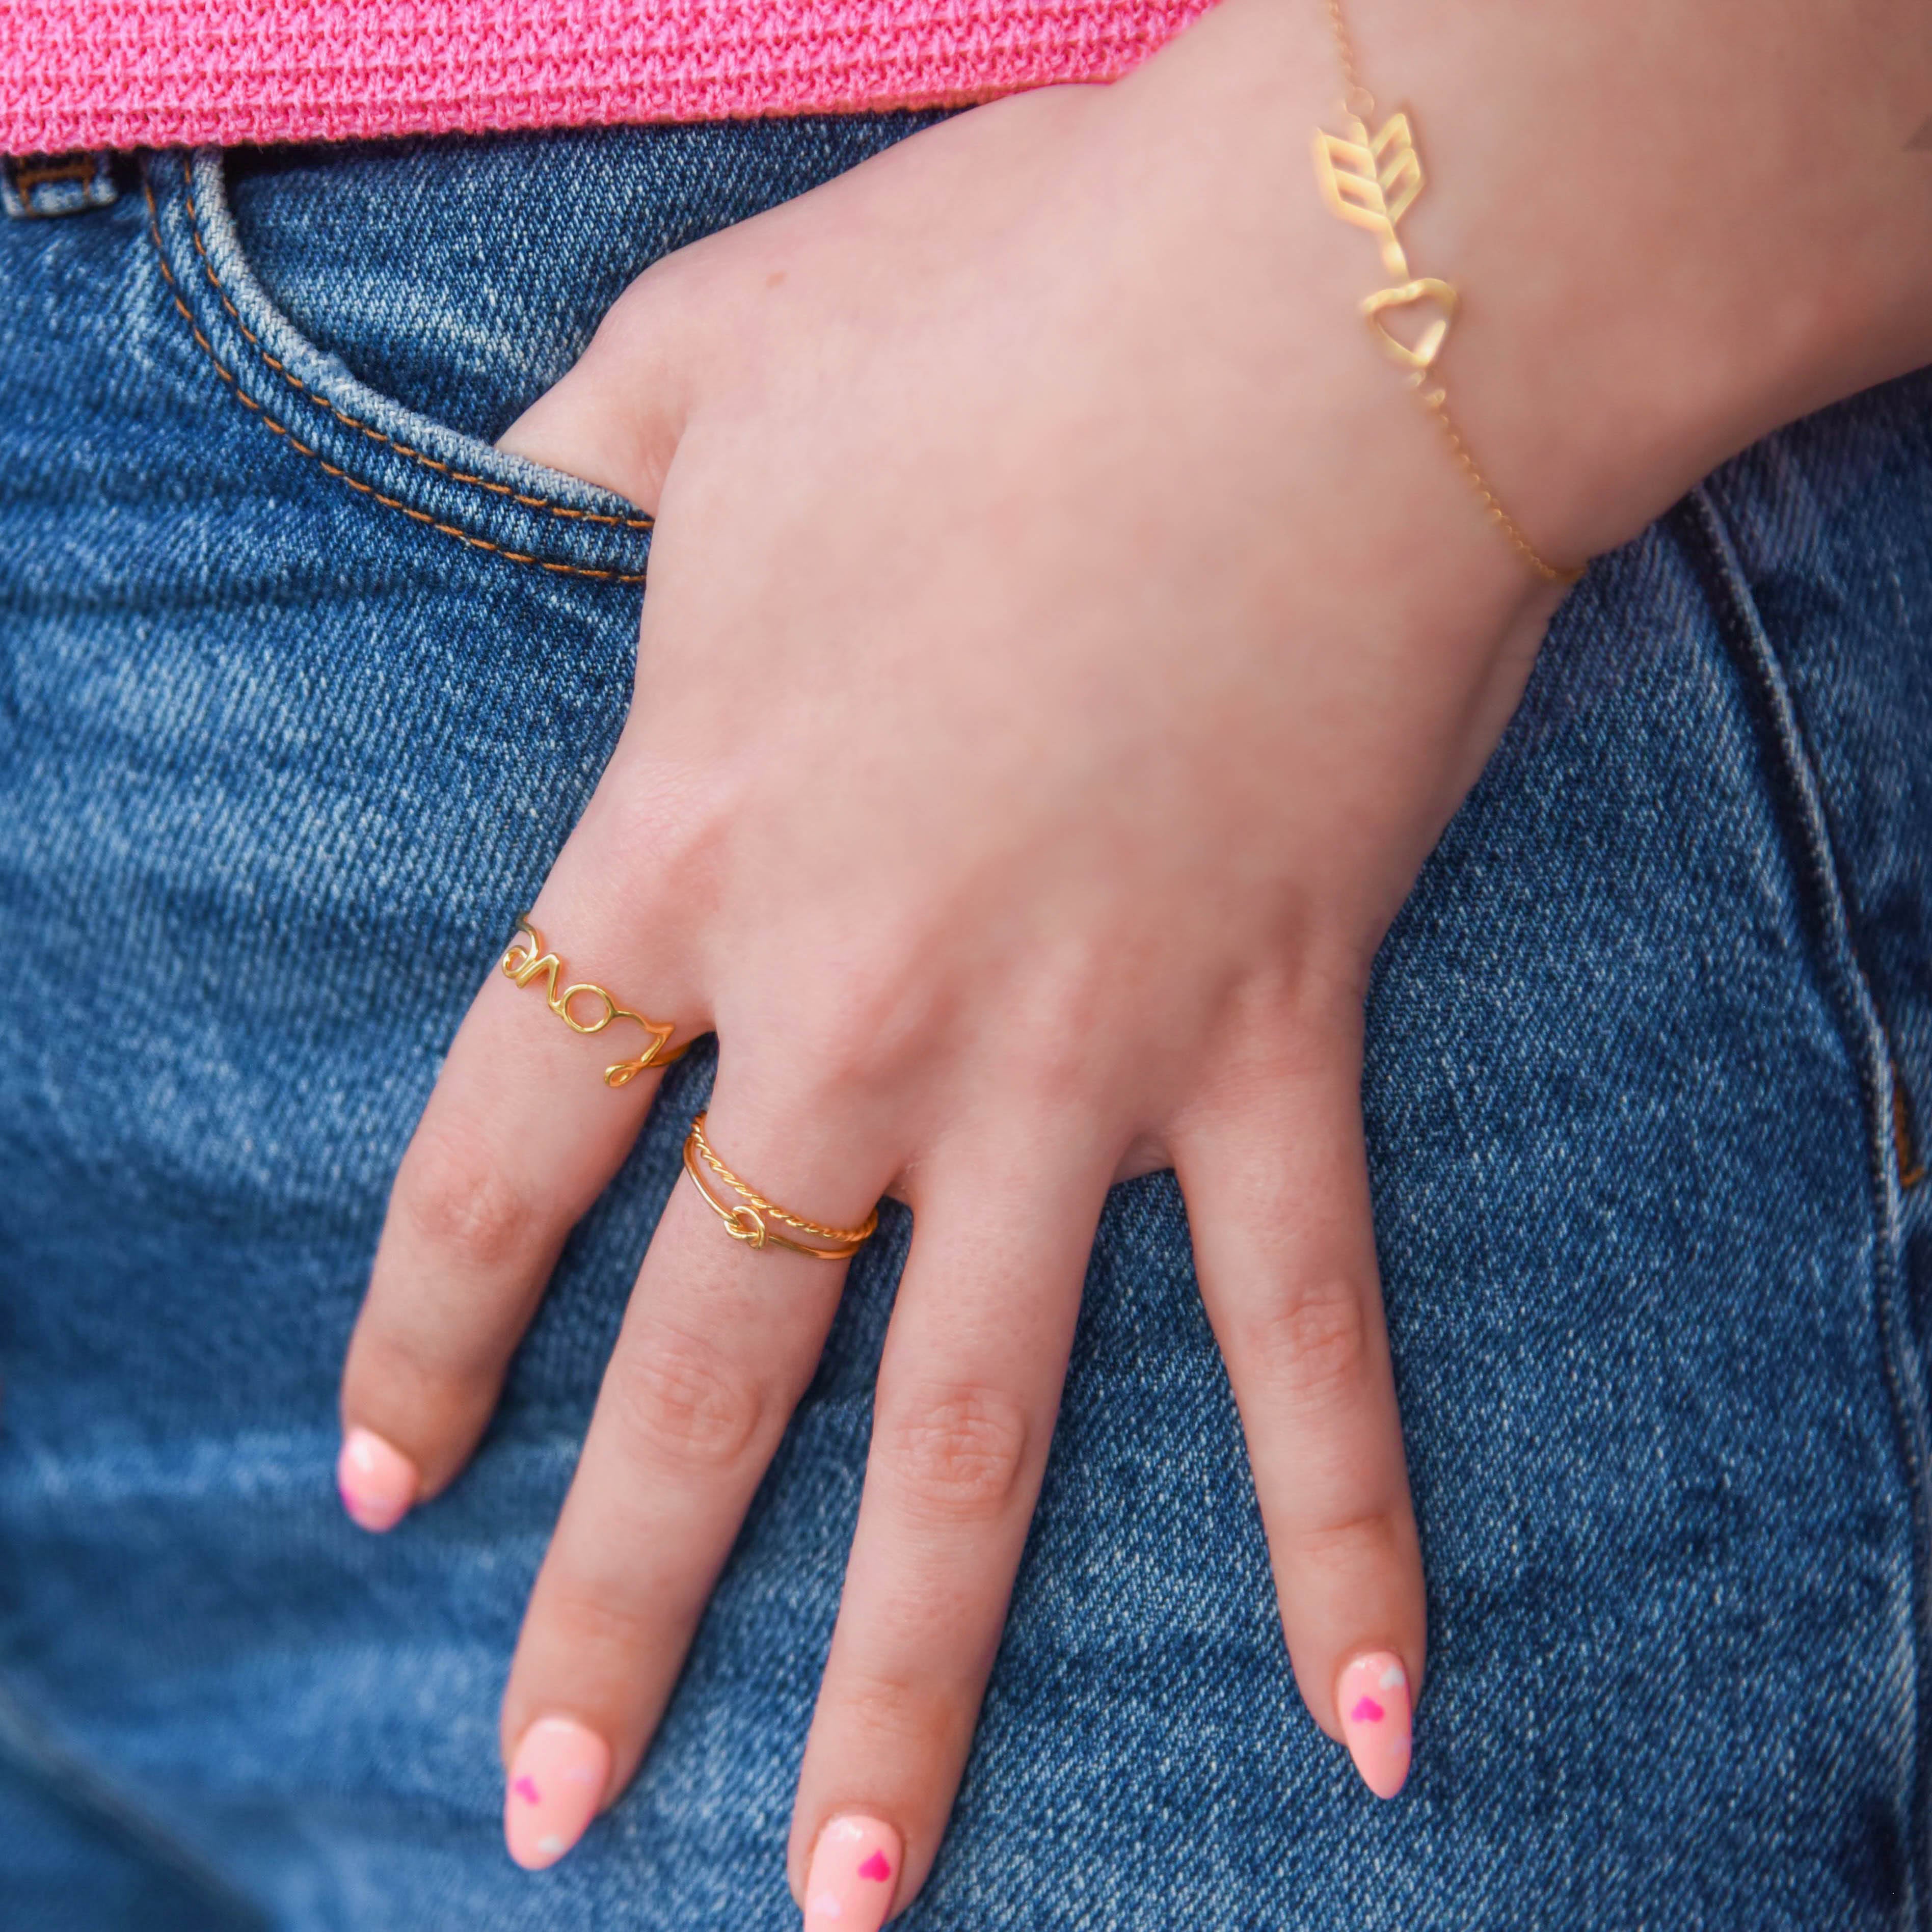
[[[1294,1681],[1378,1797],[1408,1772],[1422,1553],[1389,1368],[1360,1026],[1250,1059],[1184,1132],[1202,1300],[1240,1406]]]

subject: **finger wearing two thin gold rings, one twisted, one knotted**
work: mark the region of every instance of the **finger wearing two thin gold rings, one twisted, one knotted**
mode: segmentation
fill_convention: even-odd
[[[767,1202],[829,1227],[862,1225],[896,1165],[883,1136],[829,1107],[761,1109],[728,1066],[705,1130]],[[742,1200],[705,1175],[717,1200]],[[672,1190],[504,1694],[504,1835],[518,1862],[560,1859],[636,1770],[811,1379],[844,1273],[844,1262],[730,1238],[688,1177]],[[554,1758],[560,1727],[574,1766],[593,1774],[574,1785],[531,1770]]]

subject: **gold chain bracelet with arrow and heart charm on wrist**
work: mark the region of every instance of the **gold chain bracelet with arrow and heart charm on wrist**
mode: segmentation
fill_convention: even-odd
[[[1408,255],[1403,251],[1395,224],[1422,193],[1424,174],[1416,156],[1414,133],[1406,114],[1391,114],[1370,133],[1368,124],[1376,112],[1376,97],[1356,79],[1354,48],[1349,43],[1349,29],[1343,25],[1341,0],[1327,0],[1327,15],[1329,31],[1335,37],[1335,58],[1341,66],[1341,110],[1347,116],[1349,131],[1339,135],[1316,129],[1316,182],[1329,213],[1339,214],[1345,222],[1354,222],[1356,228],[1368,228],[1381,240],[1381,265],[1395,276],[1393,286],[1378,288],[1362,301],[1362,319],[1383,350],[1408,371],[1408,386],[1420,398],[1422,408],[1441,423],[1443,435],[1449,439],[1449,454],[1480,498],[1490,522],[1540,578],[1549,583],[1575,583],[1582,570],[1565,570],[1544,558],[1522,533],[1522,526],[1495,500],[1495,493],[1476,468],[1476,458],[1468,454],[1468,444],[1449,415],[1449,390],[1439,381],[1426,386],[1435,357],[1449,336],[1449,325],[1455,321],[1459,298],[1453,284],[1437,280],[1434,274],[1410,272]],[[1426,317],[1414,344],[1399,340],[1383,319],[1403,309],[1420,309]]]

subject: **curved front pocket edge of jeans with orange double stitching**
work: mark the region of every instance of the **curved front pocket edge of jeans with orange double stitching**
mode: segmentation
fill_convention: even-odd
[[[651,518],[359,381],[276,305],[236,230],[224,156],[153,155],[149,228],[174,307],[234,400],[373,516],[566,578],[641,583]]]

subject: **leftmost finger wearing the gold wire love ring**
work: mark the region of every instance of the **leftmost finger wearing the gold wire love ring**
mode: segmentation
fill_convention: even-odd
[[[365,1528],[390,1528],[468,1461],[564,1238],[643,1124],[665,1053],[701,1030],[674,949],[601,889],[605,844],[593,806],[533,908],[547,945],[516,937],[500,958],[518,978],[491,966],[396,1173],[342,1374],[338,1482]],[[603,993],[570,995],[585,981],[638,1018],[612,1016]],[[674,1041],[643,1020],[680,1022]]]

